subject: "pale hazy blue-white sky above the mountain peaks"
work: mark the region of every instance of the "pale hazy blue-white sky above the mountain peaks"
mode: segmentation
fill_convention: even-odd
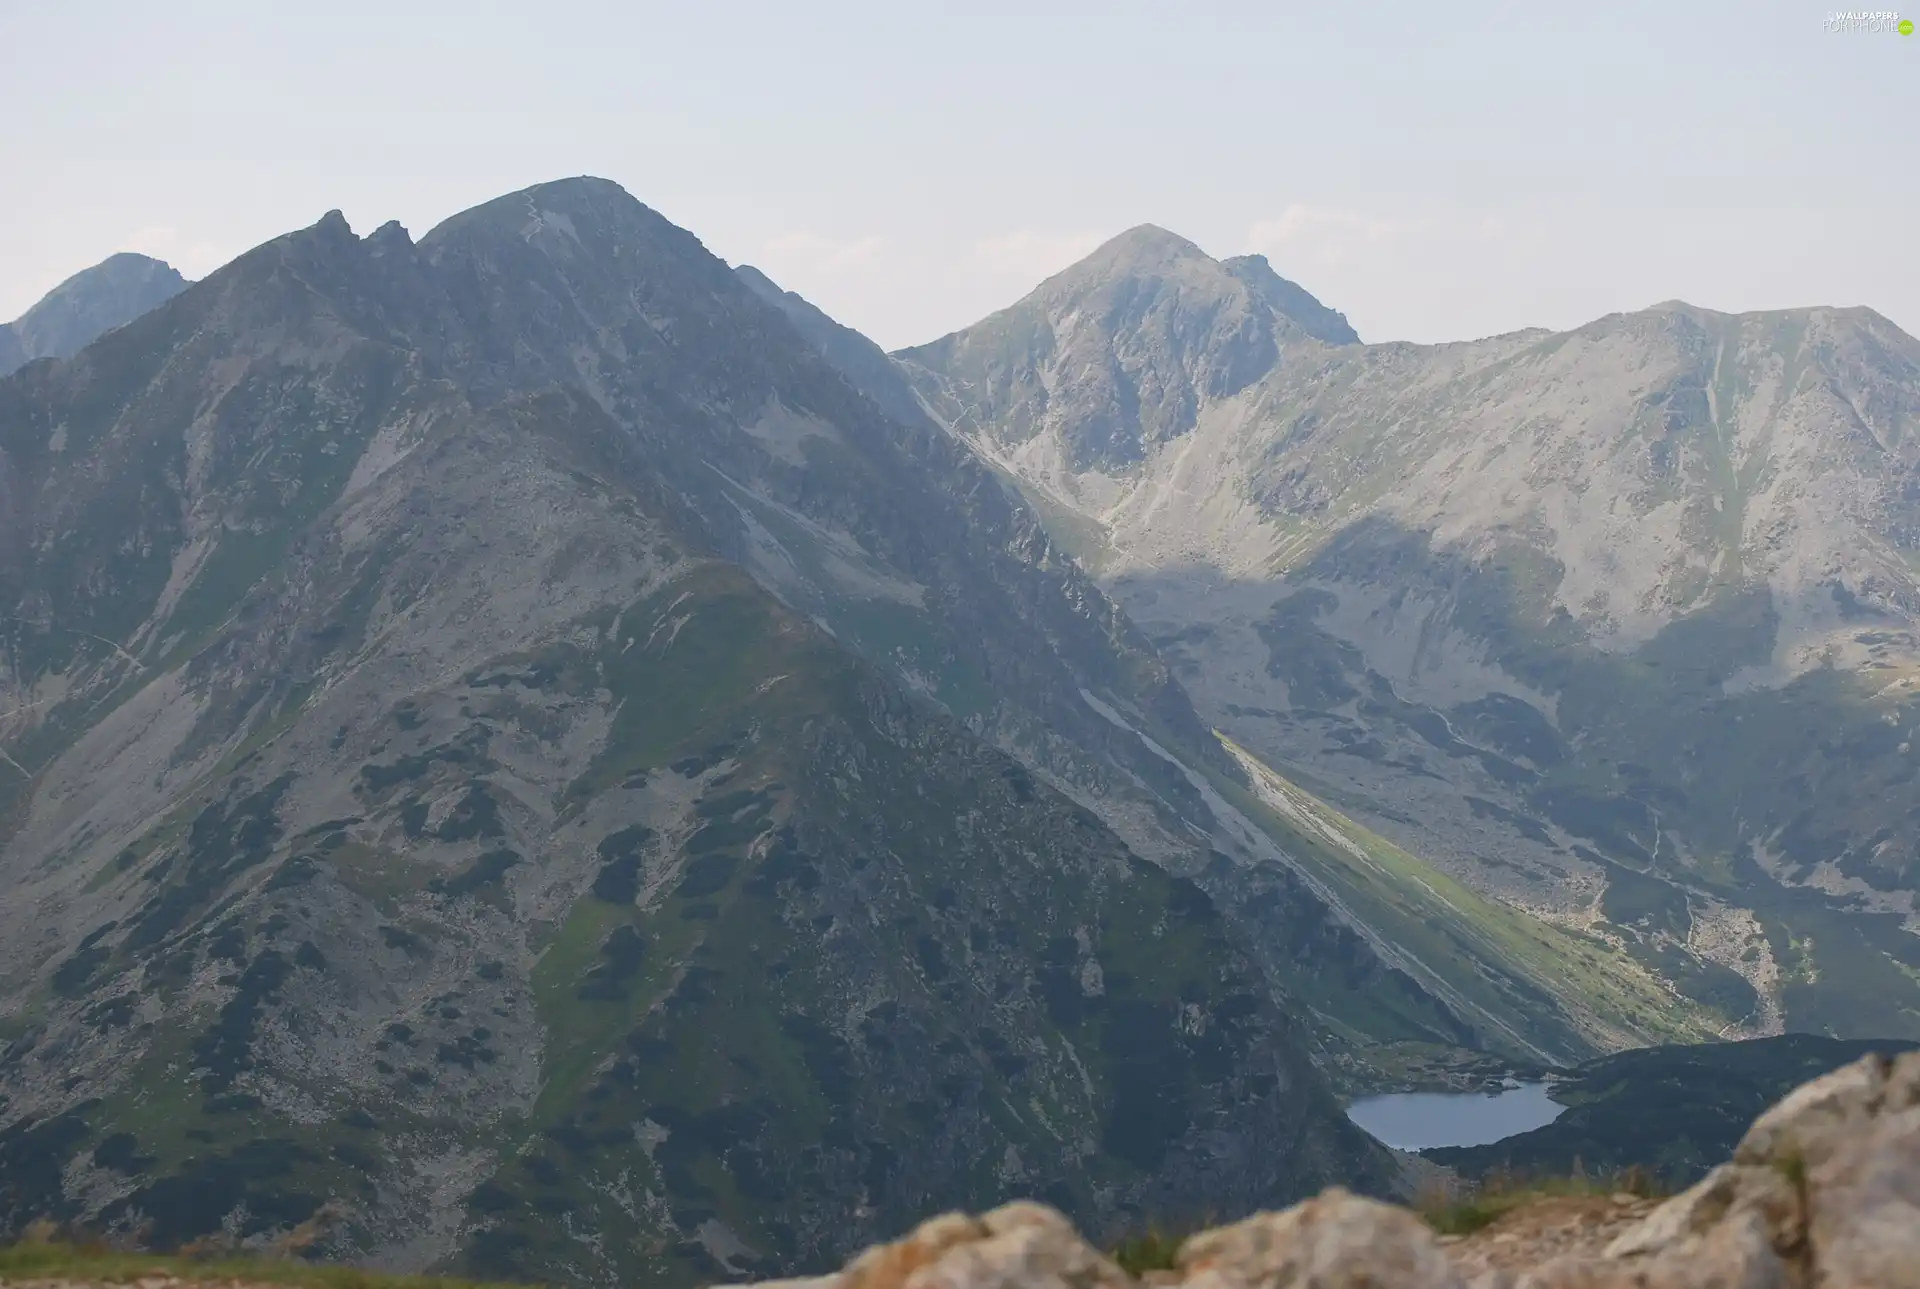
[[[1920,332],[1920,33],[1830,12],[0,0],[0,319],[113,250],[200,277],[593,173],[887,346],[1137,223],[1367,340],[1668,298]]]

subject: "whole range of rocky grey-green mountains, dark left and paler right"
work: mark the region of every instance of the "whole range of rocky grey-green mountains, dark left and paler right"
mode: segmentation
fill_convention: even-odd
[[[100,273],[0,378],[0,1235],[797,1274],[1920,1030],[1876,315],[1363,346],[1135,229],[889,355],[597,179]]]

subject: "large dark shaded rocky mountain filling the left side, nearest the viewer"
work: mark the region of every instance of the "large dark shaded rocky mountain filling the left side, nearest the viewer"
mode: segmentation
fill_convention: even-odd
[[[793,1272],[1380,1189],[1327,1016],[1473,1037],[1010,488],[605,181],[0,382],[0,1233]]]

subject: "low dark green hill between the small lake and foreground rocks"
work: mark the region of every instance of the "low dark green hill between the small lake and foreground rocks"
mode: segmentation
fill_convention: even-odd
[[[1463,1178],[1609,1178],[1642,1170],[1680,1189],[1732,1156],[1766,1107],[1860,1057],[1920,1043],[1782,1034],[1743,1043],[1647,1047],[1574,1066],[1553,1085],[1567,1110],[1494,1145],[1421,1151]]]

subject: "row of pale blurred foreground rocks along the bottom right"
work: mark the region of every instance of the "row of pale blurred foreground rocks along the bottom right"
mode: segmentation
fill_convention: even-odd
[[[1649,1212],[1630,1197],[1594,1206],[1628,1224],[1549,1201],[1446,1239],[1405,1208],[1336,1187],[1202,1231],[1169,1270],[1142,1279],[1152,1289],[1920,1289],[1920,1053],[1866,1057],[1799,1087],[1755,1120],[1728,1164]],[[1588,1231],[1586,1247],[1569,1247],[1569,1229]],[[1142,1279],[1052,1208],[1020,1203],[933,1218],[835,1276],[783,1289],[1137,1289]]]

